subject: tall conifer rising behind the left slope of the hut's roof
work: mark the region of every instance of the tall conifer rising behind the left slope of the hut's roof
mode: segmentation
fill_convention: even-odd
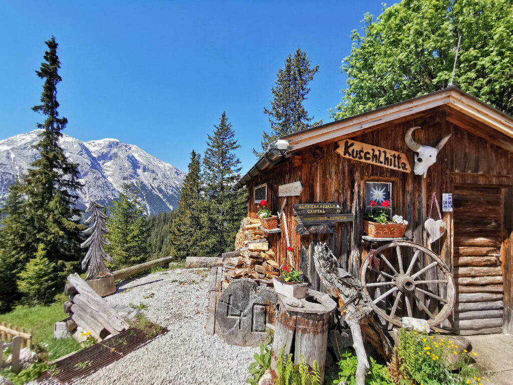
[[[310,66],[311,60],[306,52],[298,48],[285,59],[284,68],[278,70],[275,87],[271,88],[271,108],[264,107],[264,113],[269,116],[271,123],[271,132],[262,132],[262,152],[253,149],[254,155],[261,157],[267,146],[278,137],[322,124],[322,120],[310,124],[313,118],[308,116],[303,106],[310,92],[308,83],[319,70],[319,65]]]

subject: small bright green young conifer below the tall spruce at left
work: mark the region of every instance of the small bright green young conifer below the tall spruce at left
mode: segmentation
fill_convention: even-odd
[[[50,303],[56,293],[55,263],[46,258],[45,245],[40,243],[37,252],[18,274],[18,290],[29,304]]]

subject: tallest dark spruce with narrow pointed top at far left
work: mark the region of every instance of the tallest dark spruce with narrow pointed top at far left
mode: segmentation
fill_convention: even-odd
[[[81,184],[76,164],[69,162],[58,144],[62,137],[61,131],[68,123],[58,113],[57,84],[62,80],[58,74],[61,63],[57,56],[55,38],[45,43],[48,47],[44,55],[45,62],[35,71],[44,80],[41,104],[32,107],[35,112],[46,116],[43,123],[37,124],[41,129],[39,141],[35,145],[39,153],[27,174],[10,189],[7,207],[3,209],[6,217],[2,221],[4,227],[0,234],[0,238],[6,241],[0,241],[0,247],[2,259],[14,258],[14,271],[19,272],[37,252],[38,245],[43,244],[54,266],[54,273],[58,273],[53,284],[61,287],[62,279],[82,255],[81,211],[75,207],[78,198],[76,191]],[[19,297],[12,277],[9,284],[13,297]]]

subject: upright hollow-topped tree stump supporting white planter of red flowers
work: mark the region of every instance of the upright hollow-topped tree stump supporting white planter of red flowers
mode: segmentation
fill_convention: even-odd
[[[277,360],[285,346],[285,355],[292,352],[294,362],[305,357],[306,363],[312,367],[313,361],[319,363],[321,383],[324,380],[326,367],[326,348],[328,343],[329,317],[337,306],[329,295],[315,290],[308,290],[302,299],[278,295],[280,311],[275,325],[272,344],[271,376],[278,376]],[[298,305],[293,306],[293,305]],[[294,338],[295,337],[295,338]],[[292,341],[294,341],[292,345]]]

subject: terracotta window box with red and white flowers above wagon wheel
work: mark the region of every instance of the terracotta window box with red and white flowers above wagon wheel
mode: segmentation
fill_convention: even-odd
[[[363,221],[365,233],[372,238],[401,238],[406,232],[408,222],[399,215],[390,218],[387,210],[390,201],[383,201],[379,209],[375,209],[376,206],[376,201],[370,201],[370,210]]]

